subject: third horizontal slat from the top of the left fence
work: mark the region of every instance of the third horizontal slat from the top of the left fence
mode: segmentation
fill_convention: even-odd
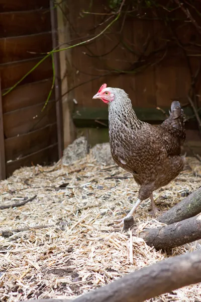
[[[33,59],[52,50],[51,32],[0,39],[0,64]]]

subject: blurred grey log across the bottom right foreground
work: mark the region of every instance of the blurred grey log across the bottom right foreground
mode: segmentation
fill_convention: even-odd
[[[142,302],[180,287],[201,282],[201,252],[175,256],[142,268],[109,285],[84,294],[74,302]],[[69,302],[42,299],[32,302]],[[27,302],[27,301],[26,301]]]

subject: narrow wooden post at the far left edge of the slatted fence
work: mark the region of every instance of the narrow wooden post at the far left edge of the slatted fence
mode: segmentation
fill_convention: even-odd
[[[5,145],[4,145],[4,120],[2,108],[2,88],[0,77],[0,180],[6,178],[6,159],[5,159]]]

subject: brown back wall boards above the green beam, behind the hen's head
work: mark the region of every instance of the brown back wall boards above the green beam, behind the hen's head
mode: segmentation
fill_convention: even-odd
[[[79,14],[81,9],[104,14],[105,4],[104,1],[92,2],[91,6],[90,1],[69,2],[71,14],[68,17],[73,23],[72,39],[87,35],[90,38],[105,28],[105,25],[97,26],[103,22],[103,15],[84,14],[81,17]],[[175,10],[171,12],[171,16],[176,18],[174,29],[181,42],[196,42],[200,45],[199,35],[192,24],[186,22],[180,26],[179,18],[184,18],[183,12]],[[129,94],[134,107],[167,107],[171,99],[182,100],[183,104],[187,102],[190,73],[183,50],[175,42],[170,42],[170,38],[174,38],[171,29],[164,22],[150,19],[149,16],[143,20],[120,18],[120,22],[87,46],[72,49],[72,67],[76,74],[74,95],[79,106],[104,108],[106,105],[103,102],[92,100],[92,96],[103,83],[107,83],[109,87],[123,88]],[[195,54],[192,45],[188,45],[187,49]],[[192,64],[193,73],[200,62],[200,54],[198,48],[196,49],[197,57],[190,57],[195,62]],[[143,64],[147,68],[141,68]],[[82,85],[83,83],[85,84]],[[201,76],[196,88],[200,95]],[[200,97],[199,99],[201,100]]]

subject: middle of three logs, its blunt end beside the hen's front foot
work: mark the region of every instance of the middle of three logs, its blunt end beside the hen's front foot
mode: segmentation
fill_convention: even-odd
[[[197,215],[156,229],[146,229],[139,234],[155,249],[171,249],[201,239],[201,215]]]

